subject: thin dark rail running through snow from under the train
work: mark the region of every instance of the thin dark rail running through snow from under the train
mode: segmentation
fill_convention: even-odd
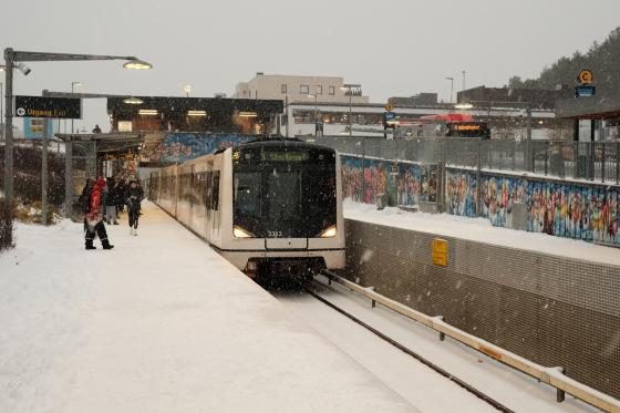
[[[328,275],[329,277],[329,275]],[[454,382],[455,384],[459,385],[461,388],[463,388],[464,390],[466,390],[467,392],[474,394],[476,397],[480,399],[482,401],[484,401],[485,403],[489,404],[490,406],[493,406],[494,409],[498,410],[499,412],[504,412],[504,413],[514,413],[514,411],[509,407],[507,407],[506,405],[499,403],[497,400],[490,397],[489,395],[483,393],[482,391],[479,391],[478,389],[474,388],[473,385],[466,383],[465,381],[458,379],[457,376],[455,376],[454,374],[450,373],[448,371],[442,369],[441,366],[438,366],[437,364],[431,362],[430,360],[423,358],[422,355],[420,355],[418,353],[414,352],[413,350],[409,349],[407,347],[399,343],[396,340],[390,338],[389,335],[382,333],[381,331],[379,331],[378,329],[373,328],[372,326],[370,326],[369,323],[362,321],[361,319],[359,319],[358,317],[353,316],[352,313],[350,313],[349,311],[342,309],[341,307],[334,304],[333,302],[327,300],[326,298],[321,297],[318,292],[316,288],[312,288],[312,286],[317,287],[320,286],[321,288],[331,288],[322,282],[319,281],[313,281],[312,283],[301,283],[299,282],[298,286],[300,289],[304,290],[308,295],[310,295],[311,297],[316,298],[317,300],[319,300],[320,302],[322,302],[323,304],[330,307],[331,309],[335,310],[337,312],[339,312],[340,314],[347,317],[348,319],[350,319],[351,321],[355,322],[356,324],[363,327],[364,329],[369,330],[370,332],[372,332],[373,334],[375,334],[376,337],[379,337],[380,339],[386,341],[388,343],[390,343],[391,345],[395,347],[396,349],[399,349],[400,351],[402,351],[403,353],[412,357],[413,359],[417,360],[418,362],[423,363],[424,365],[428,366],[430,369],[432,369],[433,371],[437,372],[438,374],[443,375],[444,378],[448,379],[450,381]]]

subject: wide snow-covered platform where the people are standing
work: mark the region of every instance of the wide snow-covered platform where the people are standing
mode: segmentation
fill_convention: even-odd
[[[415,412],[200,239],[144,203],[115,248],[17,227],[0,255],[1,412]]]

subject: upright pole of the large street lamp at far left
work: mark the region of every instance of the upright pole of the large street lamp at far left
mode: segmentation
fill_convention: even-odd
[[[13,221],[13,49],[4,49],[4,221]],[[11,231],[7,233],[12,242]]]

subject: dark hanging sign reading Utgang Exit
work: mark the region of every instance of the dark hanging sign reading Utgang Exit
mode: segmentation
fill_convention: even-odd
[[[82,118],[82,101],[73,97],[16,96],[16,116]]]

